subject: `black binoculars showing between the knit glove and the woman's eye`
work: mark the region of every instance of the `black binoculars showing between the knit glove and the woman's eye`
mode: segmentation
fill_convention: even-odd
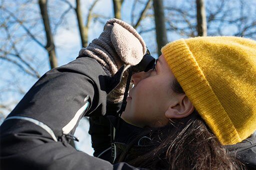
[[[148,70],[154,68],[155,59],[150,55],[149,50],[146,50],[146,54],[143,56],[142,60],[135,66],[132,66],[132,72],[147,72]]]

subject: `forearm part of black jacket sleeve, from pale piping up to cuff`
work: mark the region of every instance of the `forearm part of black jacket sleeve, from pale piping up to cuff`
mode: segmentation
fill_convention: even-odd
[[[21,116],[47,125],[59,138],[73,134],[82,116],[104,115],[106,74],[96,60],[82,57],[45,73],[7,118]]]

